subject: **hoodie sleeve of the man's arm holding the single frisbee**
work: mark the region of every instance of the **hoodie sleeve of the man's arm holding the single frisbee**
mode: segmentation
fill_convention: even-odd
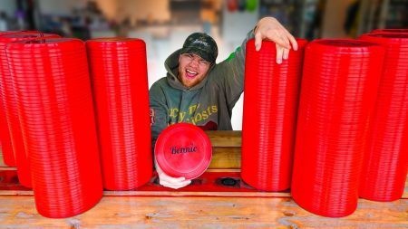
[[[151,86],[149,100],[151,106],[151,146],[154,152],[157,138],[161,131],[166,129],[169,124],[168,106],[159,81]]]

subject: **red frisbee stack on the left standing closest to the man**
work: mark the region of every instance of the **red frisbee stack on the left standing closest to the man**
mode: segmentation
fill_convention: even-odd
[[[136,38],[86,42],[103,186],[130,190],[152,177],[151,119],[146,44]]]

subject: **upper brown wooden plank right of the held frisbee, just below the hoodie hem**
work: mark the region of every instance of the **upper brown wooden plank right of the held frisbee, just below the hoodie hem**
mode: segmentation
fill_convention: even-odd
[[[217,148],[240,148],[241,131],[238,130],[209,130],[206,131],[212,147]]]

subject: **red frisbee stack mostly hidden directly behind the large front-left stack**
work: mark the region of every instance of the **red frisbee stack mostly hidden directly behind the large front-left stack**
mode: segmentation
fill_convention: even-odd
[[[27,152],[25,152],[23,133],[18,117],[17,100],[15,97],[15,88],[12,75],[10,73],[5,46],[7,43],[34,40],[38,38],[57,38],[59,35],[47,33],[10,33],[0,35],[0,81],[2,87],[1,99],[3,100],[5,118],[9,129],[10,139],[15,156],[15,165],[17,167],[18,180],[22,186],[32,187],[31,173],[28,163]]]

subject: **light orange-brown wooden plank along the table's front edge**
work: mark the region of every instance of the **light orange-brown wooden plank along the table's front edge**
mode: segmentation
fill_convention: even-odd
[[[313,215],[291,199],[248,197],[103,197],[65,219],[39,215],[32,196],[0,196],[0,228],[407,228],[408,200],[360,200],[353,215]],[[16,204],[18,203],[18,204]]]

